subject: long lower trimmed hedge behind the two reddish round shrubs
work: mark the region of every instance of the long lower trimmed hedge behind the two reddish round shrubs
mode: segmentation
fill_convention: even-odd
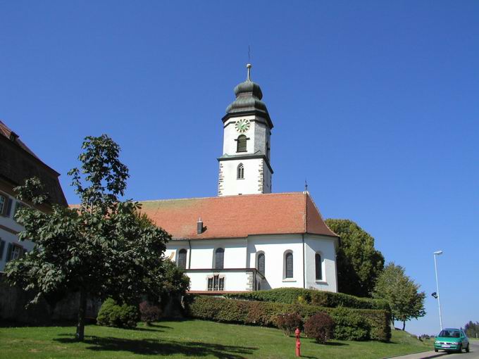
[[[327,313],[336,323],[336,339],[389,341],[391,338],[388,310],[324,308],[309,304],[238,301],[211,296],[189,296],[188,302],[190,317],[215,322],[275,327],[275,318],[280,314],[298,313],[307,320],[316,313]]]

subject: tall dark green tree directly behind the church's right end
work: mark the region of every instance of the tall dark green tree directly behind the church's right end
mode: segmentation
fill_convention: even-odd
[[[341,237],[336,262],[339,291],[371,296],[375,280],[384,267],[384,257],[374,248],[374,238],[352,220],[328,219],[325,222]]]

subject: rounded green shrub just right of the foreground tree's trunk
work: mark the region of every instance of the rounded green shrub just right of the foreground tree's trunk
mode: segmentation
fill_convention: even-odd
[[[101,305],[97,322],[107,327],[134,328],[137,326],[138,308],[123,304],[119,306],[112,298]]]

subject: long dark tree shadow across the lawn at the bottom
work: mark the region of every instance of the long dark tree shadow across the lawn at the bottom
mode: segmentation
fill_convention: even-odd
[[[73,338],[54,339],[62,344],[73,344]],[[199,341],[181,342],[155,339],[120,339],[112,337],[89,336],[85,338],[86,349],[90,351],[129,351],[142,355],[207,356],[216,358],[243,359],[251,355],[257,348],[247,346],[224,346],[221,344],[201,343]]]

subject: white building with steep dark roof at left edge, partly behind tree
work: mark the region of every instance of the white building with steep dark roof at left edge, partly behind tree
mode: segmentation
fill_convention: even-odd
[[[20,206],[32,206],[15,197],[13,188],[31,177],[38,177],[49,193],[49,203],[67,206],[65,196],[58,182],[58,172],[42,162],[0,121],[0,271],[6,263],[31,251],[31,241],[18,241],[18,232],[23,227],[15,222],[15,211]],[[38,206],[39,210],[50,210],[49,204]]]

